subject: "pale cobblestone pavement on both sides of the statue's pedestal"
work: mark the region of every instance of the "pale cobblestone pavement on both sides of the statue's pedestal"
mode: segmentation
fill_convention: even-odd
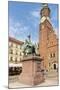
[[[55,86],[58,85],[58,77],[54,78],[46,78],[45,81],[39,85],[36,86]],[[24,85],[17,81],[9,82],[9,88],[20,88],[20,87],[32,87],[30,85]]]

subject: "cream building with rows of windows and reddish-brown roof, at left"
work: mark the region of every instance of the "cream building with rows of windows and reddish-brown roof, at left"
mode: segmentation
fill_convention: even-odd
[[[9,63],[19,63],[23,58],[23,42],[9,37]]]

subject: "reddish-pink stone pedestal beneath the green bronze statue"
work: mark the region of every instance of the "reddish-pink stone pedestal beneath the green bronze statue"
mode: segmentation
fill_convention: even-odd
[[[22,62],[22,73],[19,81],[27,85],[37,85],[44,81],[42,70],[42,58],[39,56],[24,57]]]

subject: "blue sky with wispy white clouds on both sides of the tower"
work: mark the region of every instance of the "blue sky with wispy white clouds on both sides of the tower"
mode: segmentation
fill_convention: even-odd
[[[52,26],[58,34],[58,5],[48,4],[51,10],[50,19]],[[39,23],[41,3],[8,2],[9,36],[25,41],[31,35],[31,41],[39,40]]]

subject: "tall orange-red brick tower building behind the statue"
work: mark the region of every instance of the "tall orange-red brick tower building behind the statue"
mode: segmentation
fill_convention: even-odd
[[[44,59],[44,70],[58,70],[58,38],[50,21],[50,8],[43,5],[39,25],[39,52]]]

